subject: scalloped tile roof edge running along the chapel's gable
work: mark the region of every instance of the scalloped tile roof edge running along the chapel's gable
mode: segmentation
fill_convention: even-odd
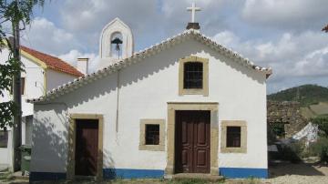
[[[197,30],[190,29],[190,30],[184,31],[183,33],[181,33],[177,36],[170,37],[170,38],[162,41],[161,43],[156,44],[155,46],[150,46],[149,48],[146,48],[145,50],[139,51],[138,53],[135,53],[128,58],[122,59],[111,66],[104,67],[102,69],[97,70],[97,72],[94,72],[92,74],[89,74],[89,75],[86,75],[83,77],[78,77],[72,82],[68,82],[67,84],[64,84],[60,87],[56,87],[56,88],[52,89],[51,91],[48,91],[46,93],[46,95],[43,97],[31,98],[31,99],[27,99],[26,101],[29,103],[37,103],[37,102],[43,102],[43,101],[47,101],[47,100],[54,99],[56,97],[65,95],[66,93],[77,90],[79,87],[85,86],[88,83],[91,83],[102,77],[106,77],[111,73],[115,73],[120,68],[124,68],[124,67],[130,66],[130,65],[133,65],[134,63],[138,63],[139,61],[142,61],[144,58],[156,55],[159,52],[161,52],[162,50],[166,50],[169,47],[175,46],[188,39],[195,39],[206,46],[210,46],[211,49],[213,49],[217,52],[220,52],[220,54],[222,54],[223,56],[230,57],[235,62],[241,63],[241,65],[243,65],[243,66],[246,66],[246,67],[254,69],[258,72],[261,72],[261,73],[265,74],[266,77],[269,77],[270,75],[272,75],[272,68],[256,66],[249,59],[242,57],[240,54],[231,51],[231,49],[229,49],[225,46],[221,46],[220,44],[211,40],[210,37],[201,35],[200,32]]]

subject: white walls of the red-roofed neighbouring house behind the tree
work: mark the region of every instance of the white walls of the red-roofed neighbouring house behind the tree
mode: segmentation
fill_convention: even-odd
[[[9,50],[3,48],[0,54],[0,64],[5,64],[9,55]],[[26,99],[41,97],[47,90],[67,83],[76,77],[67,75],[62,72],[57,72],[52,69],[46,69],[46,88],[45,88],[45,70],[35,62],[21,56],[21,61],[24,65],[25,72],[21,73],[22,77],[25,77],[25,94],[22,95],[22,144],[30,144],[32,136],[31,122],[27,122],[26,117],[33,116],[34,109],[33,104],[27,103]],[[0,102],[9,101],[12,99],[12,95],[8,91],[5,92],[5,97],[0,98]],[[8,128],[9,130],[11,128]],[[27,132],[26,132],[27,131]],[[11,146],[12,137],[9,137],[8,146]],[[0,164],[11,165],[11,148],[0,148]]]

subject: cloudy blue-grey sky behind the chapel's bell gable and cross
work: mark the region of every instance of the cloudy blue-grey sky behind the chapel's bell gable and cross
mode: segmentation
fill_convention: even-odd
[[[327,0],[47,0],[34,11],[22,43],[72,65],[89,57],[97,66],[99,36],[115,17],[132,29],[135,51],[177,35],[190,21],[195,2],[200,32],[270,66],[268,93],[302,84],[328,87]]]

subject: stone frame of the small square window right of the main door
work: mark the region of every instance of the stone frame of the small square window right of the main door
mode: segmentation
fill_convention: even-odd
[[[241,127],[241,147],[227,148],[227,127]],[[222,120],[220,132],[221,153],[247,153],[247,122],[244,120]]]

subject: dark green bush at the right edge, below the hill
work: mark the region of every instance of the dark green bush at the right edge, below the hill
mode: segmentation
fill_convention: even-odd
[[[310,151],[314,156],[320,157],[321,161],[328,162],[328,138],[318,138],[310,145]]]

